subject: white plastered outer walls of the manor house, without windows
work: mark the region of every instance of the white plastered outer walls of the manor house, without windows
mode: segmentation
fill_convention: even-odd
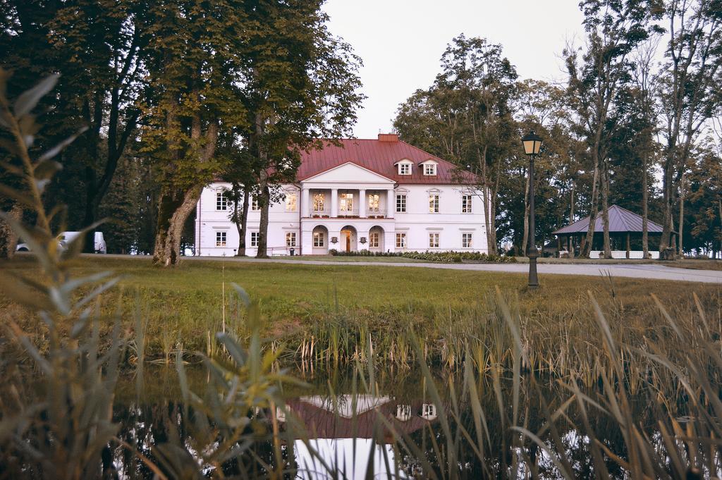
[[[314,181],[313,188],[318,188]],[[331,188],[332,186],[326,186]],[[339,190],[354,188],[352,185],[339,185]],[[238,248],[238,231],[235,224],[228,218],[231,212],[229,204],[225,211],[216,210],[216,192],[222,188],[230,188],[230,183],[213,183],[204,188],[201,200],[196,209],[196,256],[232,256],[234,249]],[[336,188],[336,185],[333,186]],[[327,248],[343,250],[341,230],[350,225],[357,231],[357,250],[365,250],[368,243],[360,243],[360,238],[369,238],[371,227],[378,226],[383,229],[383,245],[378,249],[382,251],[401,250],[396,248],[396,233],[406,233],[406,250],[417,251],[477,251],[487,252],[487,237],[484,230],[484,209],[480,192],[472,193],[471,213],[461,213],[461,196],[469,194],[468,189],[461,186],[432,186],[432,185],[401,185],[396,188],[396,195],[406,194],[406,213],[396,212],[396,201],[393,199],[394,218],[386,219],[310,219],[302,206],[302,195],[295,186],[284,186],[285,191],[295,192],[297,195],[296,210],[287,211],[284,201],[271,205],[269,211],[269,255],[273,253],[287,253],[286,233],[296,232],[296,254],[310,255],[312,252],[312,232],[317,225],[323,225],[329,230],[326,238]],[[371,188],[369,188],[369,191]],[[381,206],[386,208],[386,191],[381,191]],[[429,195],[438,193],[439,213],[430,213]],[[330,201],[330,198],[329,200]],[[299,219],[299,209],[304,209],[302,220]],[[260,212],[250,211],[248,214],[248,232],[246,234],[246,255],[256,254],[256,248],[251,247],[251,233],[258,232]],[[216,232],[225,231],[227,243],[225,248],[216,247]],[[439,234],[439,248],[429,247],[429,234]],[[471,248],[462,248],[462,233],[472,234]],[[338,243],[330,243],[331,237],[337,237]],[[301,252],[301,248],[303,252]],[[270,249],[275,250],[271,251]],[[318,251],[316,253],[319,253]]]

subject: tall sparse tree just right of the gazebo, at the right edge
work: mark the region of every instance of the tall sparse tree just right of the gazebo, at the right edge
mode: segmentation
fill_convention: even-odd
[[[669,0],[670,40],[658,84],[665,137],[662,162],[664,212],[660,250],[669,247],[673,211],[695,139],[722,102],[722,8],[718,0]],[[680,219],[682,220],[682,219]],[[674,246],[674,245],[672,245]]]

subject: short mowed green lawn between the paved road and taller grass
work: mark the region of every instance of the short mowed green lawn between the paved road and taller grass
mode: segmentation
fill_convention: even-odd
[[[350,328],[363,325],[381,336],[412,326],[435,338],[456,325],[478,322],[480,314],[497,308],[496,287],[521,317],[550,322],[591,317],[589,292],[604,310],[614,310],[615,318],[653,315],[657,308],[651,293],[672,313],[690,312],[692,293],[696,292],[717,320],[721,295],[721,288],[710,284],[560,275],[541,276],[541,288],[529,290],[523,274],[352,263],[186,261],[163,269],[152,266],[148,258],[97,256],[79,258],[71,274],[106,270],[122,280],[116,292],[104,295],[105,313],[117,310],[117,292],[122,292],[126,330],[134,329],[135,312],[140,312],[147,325],[149,349],[155,353],[178,342],[186,349],[203,349],[209,334],[222,328],[224,298],[227,328],[242,333],[243,308],[234,300],[231,283],[259,302],[266,336],[292,342],[321,335],[319,329],[339,322]],[[0,275],[40,279],[30,257],[0,263]],[[0,307],[4,311],[1,316],[12,315],[32,325],[32,315],[1,292]]]

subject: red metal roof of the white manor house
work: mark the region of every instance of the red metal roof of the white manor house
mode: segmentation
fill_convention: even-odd
[[[411,175],[399,175],[399,170],[393,165],[404,159],[414,162]],[[419,162],[425,160],[438,162],[436,175],[424,175]],[[336,145],[331,141],[323,141],[323,148],[301,153],[297,179],[305,180],[347,162],[360,165],[401,185],[477,183],[475,175],[398,140],[393,134],[379,134],[379,139],[340,139]]]

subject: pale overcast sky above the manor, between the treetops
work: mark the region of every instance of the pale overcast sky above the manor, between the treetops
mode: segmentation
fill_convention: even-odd
[[[329,0],[329,29],[364,62],[355,136],[391,131],[396,108],[438,73],[460,33],[500,43],[521,78],[562,79],[565,40],[582,40],[578,0]]]

